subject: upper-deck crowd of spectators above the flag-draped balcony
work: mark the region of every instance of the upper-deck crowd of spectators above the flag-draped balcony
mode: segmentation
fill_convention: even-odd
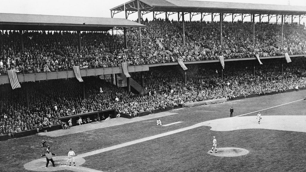
[[[79,50],[76,32],[0,31],[0,73],[16,69],[17,73],[39,73],[81,69],[115,67],[121,62],[128,65],[199,61],[225,58],[276,56],[284,52],[306,54],[304,25],[285,24],[283,45],[281,25],[256,23],[255,46],[253,24],[223,22],[222,46],[218,22],[185,22],[186,44],[182,43],[182,22],[155,19],[143,21],[142,44],[138,30],[127,32],[128,48],[123,35],[106,32],[82,32]],[[21,38],[22,36],[22,38]],[[21,40],[23,40],[22,50]]]

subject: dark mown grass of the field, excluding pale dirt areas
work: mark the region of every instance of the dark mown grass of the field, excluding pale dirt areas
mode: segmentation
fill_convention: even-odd
[[[266,115],[306,115],[306,100],[262,110],[303,99],[305,95],[306,91],[290,92],[172,110],[169,112],[177,114],[160,118],[162,124],[178,121],[182,123],[156,128],[156,119],[151,119],[66,136],[47,137],[47,143],[51,146],[51,152],[59,156],[66,156],[69,148],[73,148],[76,154],[81,154],[181,129],[199,122],[228,118],[230,107],[234,108],[233,116],[261,110],[262,122]],[[254,116],[255,119],[256,114],[257,112],[246,116]],[[73,129],[77,129],[77,126]],[[244,148],[249,153],[237,157],[209,155],[207,151],[211,149],[212,136],[217,137],[218,148]],[[28,171],[23,165],[40,159],[40,154],[46,149],[40,147],[43,137],[45,136],[34,135],[1,142],[0,171]],[[305,171],[306,133],[268,129],[217,132],[210,130],[208,126],[202,126],[84,159],[86,162],[82,166],[105,172]]]

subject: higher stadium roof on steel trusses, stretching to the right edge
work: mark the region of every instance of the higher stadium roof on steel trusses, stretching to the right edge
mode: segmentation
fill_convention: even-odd
[[[243,13],[304,15],[306,6],[287,6],[233,2],[209,2],[187,0],[139,0],[141,11],[198,12],[198,13]],[[137,11],[137,0],[125,3],[127,11]],[[124,11],[124,4],[110,10]]]

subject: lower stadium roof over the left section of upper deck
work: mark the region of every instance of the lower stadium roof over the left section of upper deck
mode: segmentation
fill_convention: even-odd
[[[108,31],[114,27],[145,27],[121,18],[0,13],[0,30]]]

